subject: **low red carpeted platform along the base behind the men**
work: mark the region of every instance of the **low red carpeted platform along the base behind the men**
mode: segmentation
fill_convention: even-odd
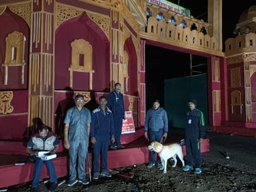
[[[176,143],[182,138],[182,135],[177,133],[169,134],[165,144]],[[123,166],[148,163],[148,144],[149,142],[144,137],[140,137],[137,140],[126,144],[125,149],[108,151],[108,168],[112,169]],[[0,142],[0,188],[29,182],[32,180],[34,163],[26,163],[25,165],[15,166],[16,162],[19,162],[20,160],[27,160],[28,157],[24,150],[25,147],[23,146],[22,142]],[[18,151],[20,151],[20,154],[18,154]],[[54,159],[54,165],[58,177],[66,176],[68,174],[68,152],[63,151],[62,145],[60,151],[62,152],[58,153],[57,158]],[[201,143],[201,151],[209,151],[208,139]],[[185,146],[183,146],[183,154],[185,154]],[[43,166],[41,178],[44,179],[48,177],[49,174],[46,171],[45,166]]]

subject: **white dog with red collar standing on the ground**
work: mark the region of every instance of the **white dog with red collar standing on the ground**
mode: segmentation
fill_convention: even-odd
[[[162,168],[160,170],[163,170],[163,173],[166,173],[166,166],[169,158],[172,157],[174,159],[174,165],[172,165],[172,167],[174,168],[176,166],[177,164],[176,155],[178,155],[180,161],[182,162],[182,166],[185,166],[185,163],[183,160],[183,154],[182,154],[182,147],[179,146],[179,144],[177,143],[163,146],[161,143],[158,143],[157,141],[153,141],[148,146],[148,148],[149,148],[149,151],[155,151],[158,153],[162,162]]]

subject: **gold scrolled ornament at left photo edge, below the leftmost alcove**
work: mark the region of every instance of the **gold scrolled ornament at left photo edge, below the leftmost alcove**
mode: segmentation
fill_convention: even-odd
[[[13,91],[0,91],[0,114],[5,115],[13,112],[10,104],[13,98]]]

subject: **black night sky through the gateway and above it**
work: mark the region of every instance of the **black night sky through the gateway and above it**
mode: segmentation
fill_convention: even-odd
[[[178,0],[171,1],[178,4]],[[190,9],[191,15],[198,20],[207,22],[207,0],[191,1],[180,0],[180,6]],[[222,48],[224,50],[227,38],[236,37],[233,34],[236,23],[244,10],[256,5],[256,0],[230,1],[222,0]],[[207,63],[205,57],[193,55],[193,65]],[[193,68],[195,71],[207,73],[207,65]],[[158,98],[164,106],[164,80],[177,77],[190,76],[190,54],[158,48],[146,44],[146,108]]]

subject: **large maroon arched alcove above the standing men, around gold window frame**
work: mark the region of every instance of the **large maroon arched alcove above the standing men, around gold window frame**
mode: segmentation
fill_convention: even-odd
[[[74,70],[73,77],[70,79],[71,43],[74,40],[84,40],[90,44],[93,75],[87,71]],[[55,32],[55,89],[65,89],[70,82],[73,83],[73,90],[103,91],[109,88],[109,50],[108,38],[85,12],[63,22]],[[81,60],[86,60],[86,58]]]

